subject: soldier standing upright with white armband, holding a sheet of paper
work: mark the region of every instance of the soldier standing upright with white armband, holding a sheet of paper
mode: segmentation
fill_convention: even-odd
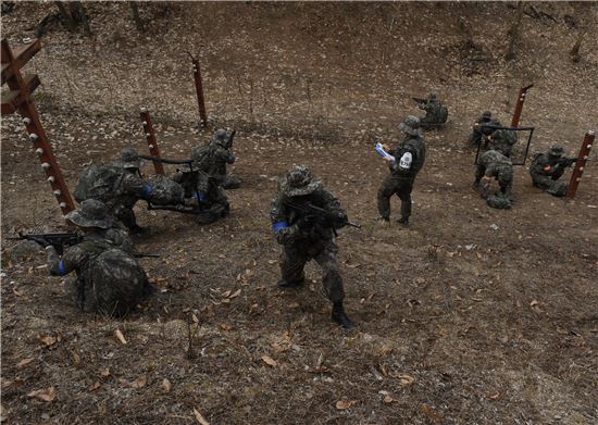
[[[399,129],[406,138],[395,148],[388,151],[388,146],[384,145],[394,160],[385,157],[388,162],[390,174],[384,179],[378,189],[377,202],[382,223],[388,223],[390,220],[390,197],[397,195],[401,200],[401,217],[398,223],[408,226],[411,216],[411,191],[415,176],[424,165],[425,142],[420,129],[420,118],[408,115],[404,122],[399,124]]]

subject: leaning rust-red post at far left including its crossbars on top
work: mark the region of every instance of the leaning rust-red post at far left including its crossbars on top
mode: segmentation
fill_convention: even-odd
[[[15,49],[14,54],[5,39],[2,39],[2,84],[7,83],[11,91],[2,97],[2,115],[18,112],[29,135],[33,148],[37,153],[41,167],[48,176],[48,183],[59,202],[63,214],[75,209],[68,187],[52,152],[46,132],[39,120],[30,93],[39,85],[37,74],[21,75],[21,67],[36,54],[41,45],[38,39]]]

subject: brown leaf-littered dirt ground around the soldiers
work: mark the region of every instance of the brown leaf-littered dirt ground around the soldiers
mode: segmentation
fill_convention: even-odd
[[[94,37],[58,26],[28,65],[70,186],[84,163],[146,149],[140,107],[164,157],[209,138],[195,126],[185,51],[202,63],[212,128],[238,129],[244,186],[210,226],[139,204],[151,233],[138,249],[162,255],[142,260],[159,293],[124,321],[82,314],[42,253],[15,259],[5,239],[64,223],[20,120],[3,117],[3,421],[201,423],[197,411],[211,424],[598,423],[597,168],[563,201],[516,167],[516,202],[497,211],[472,190],[474,154],[462,149],[483,110],[510,122],[519,87],[534,83],[522,118],[536,126],[532,151],[561,142],[576,154],[598,124],[596,9],[572,63],[570,4],[526,4],[513,62],[502,59],[511,3],[148,3],[144,35],[126,3],[85,7]],[[3,36],[30,36],[54,8],[18,3]],[[412,226],[377,227],[386,170],[373,142],[396,140],[418,112],[410,97],[429,89],[450,121],[425,135]],[[267,213],[292,163],[363,225],[338,238],[356,332],[329,322],[316,267],[302,290],[275,285]]]

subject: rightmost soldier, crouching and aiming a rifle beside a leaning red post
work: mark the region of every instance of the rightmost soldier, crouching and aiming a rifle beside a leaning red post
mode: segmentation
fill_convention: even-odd
[[[555,145],[548,151],[537,153],[530,166],[530,175],[534,186],[539,187],[555,197],[564,197],[568,185],[559,182],[568,166],[573,165],[576,158],[563,157],[563,148]]]

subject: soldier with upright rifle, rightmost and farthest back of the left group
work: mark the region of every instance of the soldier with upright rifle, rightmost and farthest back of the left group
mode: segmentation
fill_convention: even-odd
[[[224,189],[237,189],[241,184],[237,177],[226,174],[226,164],[235,162],[232,152],[234,134],[227,136],[226,130],[220,128],[208,145],[196,147],[192,151],[199,170],[215,178]]]

